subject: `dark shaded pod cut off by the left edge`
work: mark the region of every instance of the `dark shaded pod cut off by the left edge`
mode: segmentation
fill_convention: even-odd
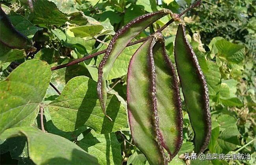
[[[0,8],[0,42],[12,49],[35,49],[30,40],[11,24],[8,16]]]

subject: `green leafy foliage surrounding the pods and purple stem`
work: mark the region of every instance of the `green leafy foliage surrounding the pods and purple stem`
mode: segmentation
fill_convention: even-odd
[[[100,164],[147,164],[145,156],[132,142],[125,102],[127,68],[139,44],[124,49],[108,76],[109,93],[112,95],[108,98],[107,111],[111,111],[110,117],[114,122],[104,118],[96,94],[97,67],[103,55],[52,73],[50,67],[106,49],[115,31],[137,16],[161,8],[180,13],[193,0],[36,0],[34,12],[24,0],[0,2],[13,25],[37,48],[37,52],[25,57],[24,50],[0,47],[0,86],[8,84],[6,77],[15,68],[15,63],[11,62],[26,61],[11,73],[9,79],[17,83],[9,88],[15,95],[32,100],[34,104],[26,101],[18,103],[16,97],[10,96],[10,105],[24,108],[18,109],[22,114],[9,114],[16,117],[15,120],[9,117],[1,121],[8,128],[15,127],[5,137],[17,132],[22,132],[22,135],[0,142],[1,164],[84,163],[78,157],[87,158],[86,152],[95,156]],[[256,163],[255,11],[255,0],[203,0],[200,7],[184,17],[187,37],[197,54],[209,88],[212,135],[208,152],[251,155],[251,160],[247,161],[212,160],[200,163]],[[166,16],[158,20],[136,39],[147,37],[169,19]],[[171,24],[163,31],[173,63],[176,28],[176,24]],[[24,77],[26,80],[23,81]],[[48,86],[49,82],[58,88],[61,96]],[[20,83],[25,87],[20,88]],[[33,87],[26,88],[26,84]],[[5,91],[5,88],[0,90]],[[13,105],[14,102],[17,105]],[[42,104],[45,107],[46,131],[52,133],[49,136],[41,135],[36,128],[22,127],[30,124],[40,128],[40,119],[36,116]],[[184,164],[183,154],[193,150],[193,131],[185,106],[183,116],[184,141],[171,164]],[[3,129],[1,127],[0,132]],[[45,156],[50,152],[43,147],[46,145],[54,146],[52,153],[56,154]],[[94,157],[89,158],[94,161]]]

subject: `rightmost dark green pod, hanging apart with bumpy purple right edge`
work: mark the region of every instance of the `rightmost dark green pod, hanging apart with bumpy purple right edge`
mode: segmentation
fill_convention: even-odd
[[[208,146],[211,137],[211,114],[206,80],[191,45],[185,26],[179,25],[175,39],[174,57],[187,112],[194,131],[195,152]]]

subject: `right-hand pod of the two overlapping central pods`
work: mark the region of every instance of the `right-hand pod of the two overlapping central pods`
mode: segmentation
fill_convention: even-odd
[[[169,59],[164,42],[153,48],[156,68],[156,99],[162,145],[170,154],[170,160],[182,145],[182,103],[178,79]]]

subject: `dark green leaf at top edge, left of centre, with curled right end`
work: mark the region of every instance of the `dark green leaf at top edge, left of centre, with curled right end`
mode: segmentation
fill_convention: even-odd
[[[54,0],[55,1],[55,0]],[[59,11],[54,2],[49,0],[36,0],[34,3],[32,22],[34,24],[63,25],[66,22],[77,25],[87,24],[87,18],[82,12],[65,14]]]

